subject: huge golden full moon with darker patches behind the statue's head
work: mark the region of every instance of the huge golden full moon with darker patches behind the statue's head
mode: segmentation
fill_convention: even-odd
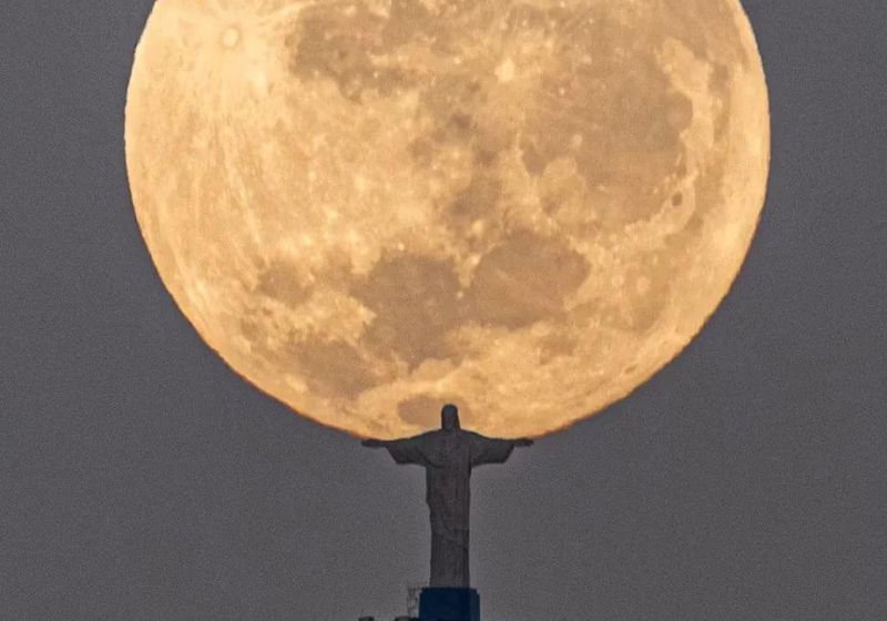
[[[738,0],[157,0],[126,163],[202,338],[355,436],[540,436],[676,356],[764,203]]]

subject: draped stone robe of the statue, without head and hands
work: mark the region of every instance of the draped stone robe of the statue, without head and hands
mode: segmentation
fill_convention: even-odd
[[[385,444],[398,464],[425,467],[426,502],[431,513],[431,587],[468,588],[468,530],[471,469],[503,464],[511,440],[473,431],[439,429]]]

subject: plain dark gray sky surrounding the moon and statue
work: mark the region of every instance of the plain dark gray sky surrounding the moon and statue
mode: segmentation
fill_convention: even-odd
[[[421,469],[237,378],[142,243],[150,4],[0,6],[0,618],[390,619]],[[745,268],[629,399],[476,472],[486,621],[887,618],[887,4],[745,6],[773,114]]]

